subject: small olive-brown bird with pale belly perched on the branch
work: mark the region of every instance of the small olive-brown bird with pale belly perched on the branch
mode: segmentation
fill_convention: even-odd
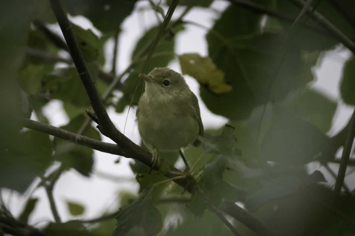
[[[144,144],[152,151],[152,166],[158,160],[158,151],[179,151],[189,172],[182,149],[190,144],[201,144],[203,136],[200,107],[195,94],[184,77],[170,68],[154,68],[148,75],[136,111],[138,131]]]

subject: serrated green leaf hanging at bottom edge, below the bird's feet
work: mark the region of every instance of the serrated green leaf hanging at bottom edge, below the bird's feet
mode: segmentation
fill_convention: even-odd
[[[153,205],[151,193],[153,186],[147,187],[131,205],[121,208],[117,214],[117,225],[113,236],[129,235],[141,232],[143,235],[155,235],[162,228],[162,215]]]

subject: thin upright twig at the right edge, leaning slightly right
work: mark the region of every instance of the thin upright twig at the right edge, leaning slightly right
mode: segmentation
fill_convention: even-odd
[[[342,185],[345,178],[346,168],[348,167],[351,147],[353,146],[355,137],[355,109],[353,115],[349,121],[349,131],[348,136],[346,137],[342,159],[339,165],[339,171],[337,175],[337,179],[335,180],[335,187],[334,187],[334,203],[337,202],[340,192],[342,191]]]

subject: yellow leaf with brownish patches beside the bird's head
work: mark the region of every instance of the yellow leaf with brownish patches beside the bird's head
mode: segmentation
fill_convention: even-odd
[[[179,56],[182,74],[194,77],[201,85],[206,85],[214,94],[232,91],[232,86],[224,80],[224,73],[218,69],[210,57],[201,57],[197,53]]]

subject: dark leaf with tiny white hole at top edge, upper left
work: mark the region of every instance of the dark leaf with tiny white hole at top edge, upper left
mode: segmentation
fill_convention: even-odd
[[[82,15],[104,33],[114,33],[121,28],[122,21],[131,14],[136,0],[65,0],[64,2],[71,15]]]

